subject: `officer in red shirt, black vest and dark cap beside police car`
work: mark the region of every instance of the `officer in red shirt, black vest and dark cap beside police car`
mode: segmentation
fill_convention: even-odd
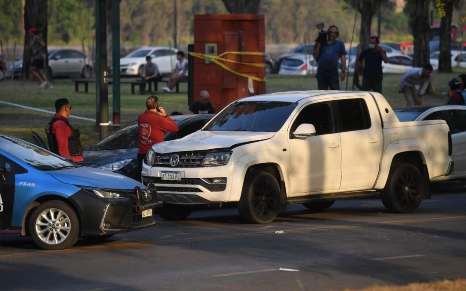
[[[68,99],[61,98],[55,101],[55,112],[45,129],[50,151],[64,158],[71,158],[75,162],[84,161],[79,129],[73,128],[68,122],[71,114]]]

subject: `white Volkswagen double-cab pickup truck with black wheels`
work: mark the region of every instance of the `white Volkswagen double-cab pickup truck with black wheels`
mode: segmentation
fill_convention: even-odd
[[[406,213],[430,198],[430,179],[449,175],[451,150],[445,121],[399,122],[378,93],[282,92],[237,100],[154,145],[142,180],[155,183],[165,219],[234,202],[244,221],[269,223],[289,203],[323,210],[366,197]]]

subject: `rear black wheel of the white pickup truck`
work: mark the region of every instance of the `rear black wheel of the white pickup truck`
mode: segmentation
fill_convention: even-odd
[[[387,210],[409,213],[418,209],[424,192],[424,180],[419,169],[405,162],[391,166],[382,202]]]

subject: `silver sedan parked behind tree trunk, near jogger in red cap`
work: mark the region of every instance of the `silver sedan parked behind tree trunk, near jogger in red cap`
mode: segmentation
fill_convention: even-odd
[[[84,61],[85,60],[85,61]],[[23,68],[23,60],[14,62],[13,77],[19,78]],[[89,78],[93,71],[93,61],[87,54],[75,49],[49,49],[48,71],[52,77]]]

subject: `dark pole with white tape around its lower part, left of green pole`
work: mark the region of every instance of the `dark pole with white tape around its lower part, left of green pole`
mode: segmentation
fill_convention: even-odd
[[[105,13],[106,0],[99,0],[99,31],[100,42],[99,47],[99,112],[100,112],[100,139],[104,139],[109,135],[109,90],[107,88],[108,72],[107,72],[107,17]]]

